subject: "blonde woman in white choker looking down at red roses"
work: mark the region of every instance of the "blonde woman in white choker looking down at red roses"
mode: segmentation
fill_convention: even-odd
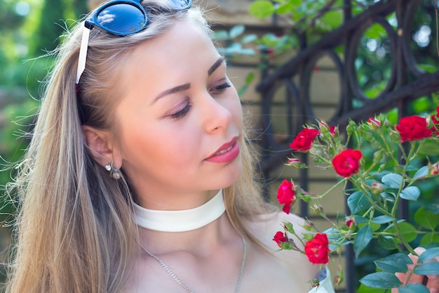
[[[301,220],[260,200],[238,95],[191,6],[110,1],[65,36],[11,185],[8,293],[311,289],[318,267],[274,253],[281,219]]]

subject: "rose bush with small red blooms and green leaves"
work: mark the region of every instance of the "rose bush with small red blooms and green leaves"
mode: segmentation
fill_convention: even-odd
[[[302,252],[311,263],[317,264],[328,263],[332,257],[329,252],[331,255],[341,254],[345,245],[353,245],[358,257],[372,240],[376,240],[384,249],[397,252],[375,261],[377,272],[366,275],[360,282],[367,287],[398,287],[399,292],[429,293],[426,286],[410,283],[408,278],[400,281],[397,275],[407,272],[439,275],[439,262],[431,261],[439,256],[439,210],[419,207],[414,214],[417,225],[414,226],[398,218],[398,207],[401,200],[419,200],[421,190],[417,183],[439,173],[439,163],[432,162],[433,157],[422,151],[424,144],[437,145],[439,141],[439,107],[431,117],[403,117],[396,125],[383,117],[371,117],[359,124],[350,121],[343,132],[345,136],[339,134],[337,126],[320,121],[317,125],[304,126],[290,143],[292,150],[309,152],[313,166],[303,164],[296,157],[288,159],[288,166],[334,169],[341,176],[330,190],[316,195],[287,180],[278,190],[283,211],[288,213],[292,204],[304,200],[311,204],[316,214],[330,221],[331,228],[320,232],[306,221],[303,228],[307,233],[299,236],[291,223],[283,222],[283,231],[278,231],[273,240],[281,249]],[[373,153],[372,162],[365,161],[362,150]],[[346,189],[348,182],[351,183],[349,190]],[[351,214],[338,216],[337,221],[332,221],[325,214],[320,200],[340,185],[345,187]],[[421,245],[430,246],[416,263],[412,261],[413,256],[417,256],[412,247],[415,238],[420,238]],[[304,249],[296,245],[297,241]],[[434,247],[433,242],[438,245]],[[410,257],[407,252],[410,252]],[[338,284],[342,280],[342,271],[335,276]]]

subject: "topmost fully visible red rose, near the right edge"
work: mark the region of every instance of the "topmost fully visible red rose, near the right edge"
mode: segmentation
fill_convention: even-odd
[[[433,131],[427,128],[427,120],[416,115],[403,117],[400,119],[396,130],[401,136],[401,143],[405,141],[419,141],[422,138],[429,138]]]

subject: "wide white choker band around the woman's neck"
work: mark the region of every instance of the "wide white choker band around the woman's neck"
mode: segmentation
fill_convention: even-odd
[[[134,221],[143,228],[161,232],[184,232],[195,230],[219,218],[226,207],[222,190],[200,207],[182,211],[159,211],[145,209],[134,204]]]

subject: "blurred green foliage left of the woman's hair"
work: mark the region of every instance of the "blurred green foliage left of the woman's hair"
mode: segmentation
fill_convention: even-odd
[[[36,107],[41,81],[53,62],[52,58],[41,56],[58,44],[58,37],[65,30],[62,19],[78,17],[87,10],[86,3],[86,0],[0,1],[0,96],[5,99],[0,109],[4,122],[0,125],[2,165],[16,162],[26,148],[27,142],[18,136],[20,131],[27,131],[32,120],[23,117],[29,117]],[[0,185],[9,180],[9,175],[1,172]]]

